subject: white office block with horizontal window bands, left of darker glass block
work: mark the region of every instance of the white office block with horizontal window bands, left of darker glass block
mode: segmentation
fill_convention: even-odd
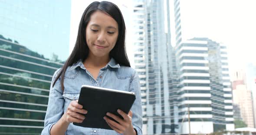
[[[189,124],[192,134],[211,133],[213,115],[207,41],[190,40],[180,46],[176,45],[176,57],[177,67],[180,69],[178,70],[180,133],[188,134]],[[190,123],[188,111],[190,111]]]

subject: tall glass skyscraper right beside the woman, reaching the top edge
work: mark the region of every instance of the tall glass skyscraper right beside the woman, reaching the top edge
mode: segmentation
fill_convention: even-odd
[[[169,12],[169,6],[166,10]],[[134,59],[141,84],[143,132],[171,133],[175,129],[173,58],[170,20],[164,14],[164,0],[134,0],[133,14]],[[169,22],[167,32],[164,18]]]

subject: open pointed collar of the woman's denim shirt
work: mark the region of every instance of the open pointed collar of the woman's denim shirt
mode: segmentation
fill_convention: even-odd
[[[82,63],[82,59],[80,59],[79,61],[77,61],[75,64],[73,64],[69,71],[72,71],[73,69],[75,69],[76,67],[81,67],[82,69],[85,69],[84,64]],[[112,67],[112,68],[119,68],[120,65],[118,63],[115,62],[114,58],[111,58],[110,61],[108,62],[108,64],[103,67],[102,69],[105,69],[107,67]]]

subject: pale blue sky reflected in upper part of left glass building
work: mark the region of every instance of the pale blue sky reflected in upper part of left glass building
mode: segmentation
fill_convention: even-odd
[[[0,35],[44,58],[51,60],[55,54],[66,61],[70,4],[69,0],[0,0]]]

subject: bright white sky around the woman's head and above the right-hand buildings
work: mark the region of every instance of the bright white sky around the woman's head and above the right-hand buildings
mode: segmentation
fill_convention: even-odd
[[[72,0],[70,51],[74,47],[82,13],[93,1]],[[128,1],[108,1],[118,5],[122,13],[131,10],[131,3]],[[172,4],[173,0],[170,0],[170,12],[174,12]],[[256,0],[181,0],[180,6],[181,30],[184,40],[207,37],[226,45],[230,72],[243,69],[249,62],[256,63]],[[124,18],[129,20],[131,15],[124,15]],[[129,28],[130,24],[127,21],[125,23]],[[175,45],[173,23],[171,23],[171,32],[172,45]],[[131,45],[127,45],[128,58],[131,61],[133,54],[130,47]]]

